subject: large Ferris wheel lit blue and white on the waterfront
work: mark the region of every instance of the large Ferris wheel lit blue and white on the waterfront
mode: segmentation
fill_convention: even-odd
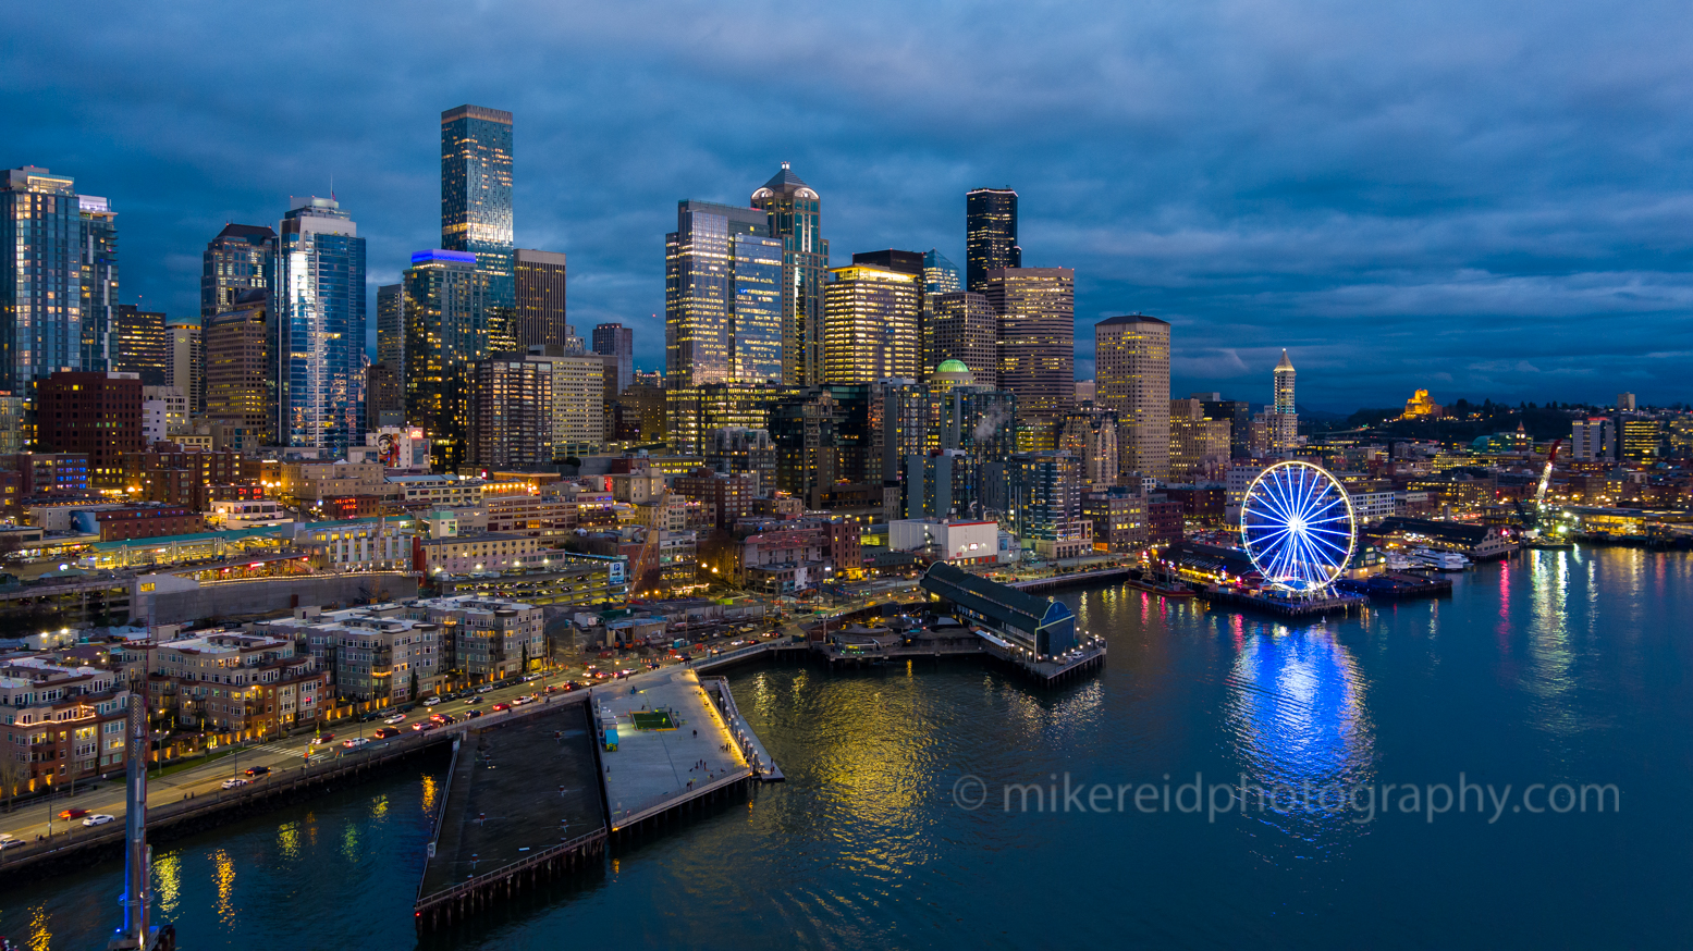
[[[1241,543],[1266,582],[1317,592],[1346,569],[1358,543],[1353,501],[1309,462],[1278,462],[1241,501]]]

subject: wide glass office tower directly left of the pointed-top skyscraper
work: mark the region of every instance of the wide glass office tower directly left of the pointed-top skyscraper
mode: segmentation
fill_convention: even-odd
[[[772,213],[681,201],[665,235],[665,388],[775,382],[786,369],[784,242]]]

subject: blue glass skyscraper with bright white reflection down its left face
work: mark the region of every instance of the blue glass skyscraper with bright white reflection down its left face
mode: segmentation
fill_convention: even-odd
[[[278,227],[278,440],[364,442],[364,239],[334,198],[295,198]]]

